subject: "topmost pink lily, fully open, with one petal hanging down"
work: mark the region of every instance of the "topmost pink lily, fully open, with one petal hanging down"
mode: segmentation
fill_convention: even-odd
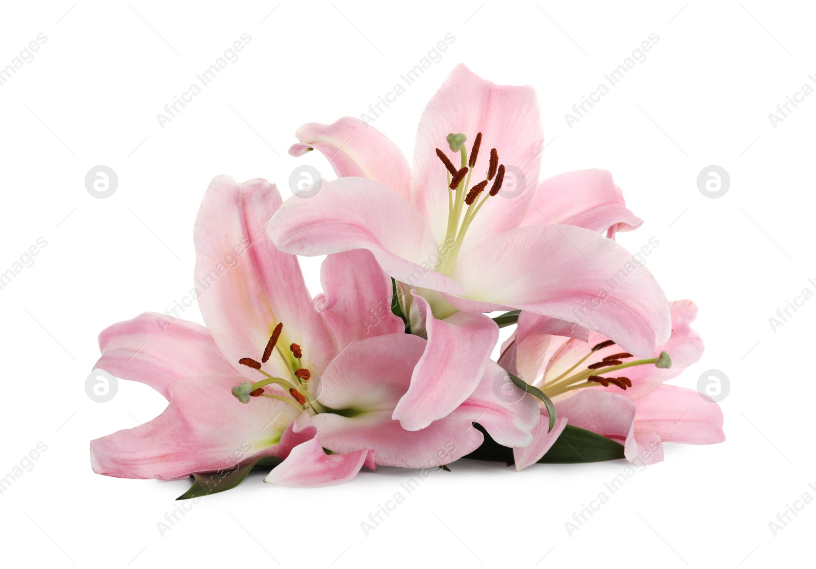
[[[406,429],[446,416],[476,388],[499,337],[485,312],[579,322],[641,355],[669,334],[667,300],[652,275],[623,270],[632,255],[596,233],[641,223],[608,173],[539,186],[543,132],[531,87],[495,85],[460,64],[423,113],[413,168],[356,118],[309,123],[297,136],[291,154],[318,149],[341,177],[322,181],[311,198],[287,200],[269,235],[298,255],[367,249],[397,280],[411,331],[428,338],[394,410]],[[441,377],[445,393],[428,401]]]

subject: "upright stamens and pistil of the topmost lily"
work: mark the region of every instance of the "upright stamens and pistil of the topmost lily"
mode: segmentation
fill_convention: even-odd
[[[435,269],[449,277],[453,273],[456,259],[459,257],[459,251],[462,248],[462,242],[468,233],[470,224],[472,224],[481,207],[485,205],[487,198],[499,193],[504,181],[504,165],[499,164],[499,153],[496,152],[496,149],[490,149],[490,165],[487,168],[485,179],[472,186],[470,185],[473,168],[476,166],[476,159],[481,147],[481,132],[473,140],[469,158],[468,150],[464,146],[466,140],[468,140],[468,137],[462,133],[451,133],[447,136],[450,149],[459,152],[461,155],[459,169],[454,166],[446,153],[441,149],[437,149],[437,156],[448,171],[448,187],[446,189],[448,193],[448,224],[445,240],[441,245],[440,258]],[[493,184],[490,186],[490,190],[484,197],[479,199],[479,196],[485,191],[487,184],[491,180]]]

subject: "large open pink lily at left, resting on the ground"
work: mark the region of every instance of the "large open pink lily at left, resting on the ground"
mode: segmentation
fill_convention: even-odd
[[[96,473],[184,478],[273,456],[282,462],[267,482],[317,487],[363,465],[457,460],[483,441],[473,422],[506,446],[532,442],[539,407],[517,388],[498,398],[494,378],[504,372],[492,362],[449,416],[401,429],[393,407],[426,341],[391,313],[390,279],[368,251],[328,256],[324,293],[313,300],[297,258],[266,236],[280,204],[265,180],[215,178],[194,234],[206,327],[144,313],[100,334],[95,368],[150,385],[169,404],[144,425],[92,441]]]

